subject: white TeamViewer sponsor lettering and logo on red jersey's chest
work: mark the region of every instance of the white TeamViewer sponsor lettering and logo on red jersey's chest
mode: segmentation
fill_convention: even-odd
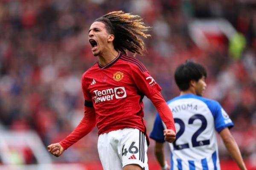
[[[114,97],[121,99],[127,96],[125,87],[108,88],[101,91],[94,90],[93,93],[95,94],[93,97],[95,103],[110,101],[113,100]]]

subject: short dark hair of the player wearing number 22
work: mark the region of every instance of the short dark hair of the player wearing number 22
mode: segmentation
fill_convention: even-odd
[[[189,89],[189,82],[191,80],[198,81],[203,76],[207,77],[204,66],[192,61],[186,61],[176,68],[175,82],[180,91],[185,91]]]

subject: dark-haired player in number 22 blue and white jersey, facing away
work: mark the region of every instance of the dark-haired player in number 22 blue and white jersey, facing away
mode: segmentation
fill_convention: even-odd
[[[236,141],[230,134],[233,127],[221,105],[202,97],[207,73],[202,65],[185,62],[175,71],[175,82],[180,96],[168,102],[177,128],[171,148],[171,167],[164,156],[164,129],[157,114],[150,138],[156,141],[155,155],[163,170],[219,170],[218,146],[215,130],[220,134],[227,150],[241,170],[246,170]]]

